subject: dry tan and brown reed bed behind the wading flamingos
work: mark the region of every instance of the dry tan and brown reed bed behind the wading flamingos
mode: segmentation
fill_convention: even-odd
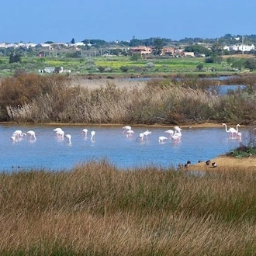
[[[245,79],[245,78],[244,78]],[[251,78],[250,78],[251,79]],[[254,88],[218,95],[215,81],[185,76],[150,81],[21,74],[0,85],[0,120],[18,123],[182,124],[256,119]]]

